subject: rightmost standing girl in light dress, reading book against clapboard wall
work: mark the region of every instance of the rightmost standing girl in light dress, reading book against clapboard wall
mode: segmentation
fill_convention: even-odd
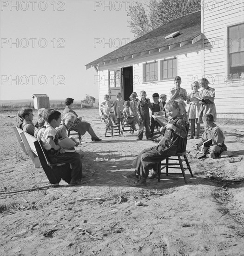
[[[209,113],[213,115],[214,121],[216,121],[217,112],[214,104],[215,89],[209,87],[209,81],[206,78],[201,79],[200,86],[202,90],[199,91],[199,98],[201,98],[202,100],[209,99],[212,103],[204,103],[203,101],[200,102],[201,108],[200,108],[198,123],[200,123],[201,120],[204,121],[205,115]]]

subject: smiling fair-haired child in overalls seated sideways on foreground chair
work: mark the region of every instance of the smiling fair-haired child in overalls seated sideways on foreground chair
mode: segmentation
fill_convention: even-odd
[[[146,178],[149,175],[149,169],[152,169],[150,178],[157,175],[158,162],[181,152],[183,139],[186,136],[185,118],[180,113],[178,101],[169,101],[165,104],[165,110],[170,121],[161,127],[160,131],[164,134],[157,146],[142,150],[133,161],[136,168],[138,182],[135,186],[145,186]]]

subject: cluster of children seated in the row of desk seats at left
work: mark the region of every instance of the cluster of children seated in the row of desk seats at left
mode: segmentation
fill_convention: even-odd
[[[31,108],[22,108],[19,115],[23,119],[23,131],[30,135],[35,134],[35,126],[33,124],[33,110]],[[44,120],[44,123],[43,123]],[[38,128],[36,129],[36,137],[42,141],[43,148],[46,150],[47,156],[51,163],[66,162],[70,163],[71,171],[71,185],[79,185],[84,182],[82,179],[82,163],[81,158],[83,154],[76,152],[66,152],[64,148],[59,146],[59,138],[66,137],[66,129],[73,125],[73,114],[66,114],[61,123],[61,113],[54,109],[41,109],[39,111],[39,119],[36,122]],[[43,127],[41,126],[43,124]],[[44,125],[45,124],[45,125]],[[79,143],[78,143],[79,144]]]

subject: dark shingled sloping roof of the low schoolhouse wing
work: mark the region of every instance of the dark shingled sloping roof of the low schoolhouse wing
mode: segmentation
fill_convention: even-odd
[[[171,33],[179,31],[179,35],[165,39]],[[123,58],[128,55],[142,55],[146,51],[161,51],[170,49],[177,43],[193,40],[201,35],[201,11],[190,13],[162,25],[151,32],[131,41],[130,43],[102,56],[101,58],[86,64],[86,69],[98,66],[99,63]],[[199,40],[199,39],[198,39]],[[184,43],[185,44],[185,43]],[[172,47],[171,47],[172,48]],[[133,57],[133,56],[132,56]],[[118,61],[118,60],[117,60]]]

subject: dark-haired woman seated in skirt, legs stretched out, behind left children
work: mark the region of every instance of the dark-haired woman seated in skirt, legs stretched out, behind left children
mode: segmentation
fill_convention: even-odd
[[[69,128],[69,130],[74,130],[76,132],[79,132],[80,135],[84,135],[86,132],[88,132],[92,137],[92,141],[101,141],[101,139],[99,139],[99,137],[93,131],[91,124],[87,122],[82,122],[81,121],[82,117],[78,118],[78,115],[72,110],[73,101],[74,99],[67,98],[65,100],[66,108],[63,111],[63,115],[71,112],[76,116],[74,124]]]

